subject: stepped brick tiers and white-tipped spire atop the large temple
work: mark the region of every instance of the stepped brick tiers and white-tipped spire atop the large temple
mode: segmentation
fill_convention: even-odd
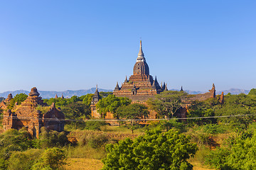
[[[117,82],[113,94],[131,98],[132,101],[145,101],[164,90],[167,90],[167,85],[164,83],[164,86],[159,86],[156,77],[153,79],[149,74],[149,66],[146,64],[142,51],[142,41],[140,41],[139,54],[137,62],[134,64],[133,75],[129,77],[129,80],[126,77],[121,87]]]

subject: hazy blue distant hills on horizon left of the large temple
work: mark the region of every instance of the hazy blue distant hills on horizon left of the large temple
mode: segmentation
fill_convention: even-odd
[[[64,96],[64,98],[70,98],[72,96],[82,96],[85,94],[94,94],[95,93],[96,88],[91,88],[91,89],[87,89],[87,90],[78,90],[78,91],[38,91],[40,96],[42,98],[54,98],[55,95],[57,94],[58,97],[60,97],[62,94]],[[112,90],[107,90],[107,89],[98,89],[99,91],[112,91]],[[24,91],[24,90],[17,90],[17,91],[5,91],[3,93],[0,93],[0,97],[4,97],[7,98],[8,94],[12,94],[13,96],[15,96],[16,94],[29,94],[30,91]]]

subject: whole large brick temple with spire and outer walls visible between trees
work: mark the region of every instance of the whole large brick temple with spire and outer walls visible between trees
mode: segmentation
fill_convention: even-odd
[[[119,97],[128,97],[132,100],[132,103],[143,103],[146,105],[146,100],[153,98],[156,94],[160,94],[163,91],[168,91],[167,84],[159,85],[156,77],[155,79],[149,74],[149,65],[146,63],[146,58],[142,51],[142,41],[140,41],[139,54],[137,61],[134,64],[133,74],[127,79],[125,77],[122,86],[119,86],[118,82],[114,88],[113,94]],[[181,91],[183,91],[181,86]],[[92,98],[92,118],[101,118],[101,115],[97,113],[96,104],[99,101],[99,92],[95,91],[95,95]],[[186,98],[183,101],[183,105],[177,111],[176,116],[178,118],[186,118],[186,112],[188,106],[191,105],[192,101],[205,101],[208,98],[216,98],[215,85],[213,84],[212,89],[210,89],[205,94],[193,94],[190,98]],[[220,95],[220,103],[224,103],[224,94]],[[107,113],[105,119],[113,119],[112,113]],[[156,112],[149,110],[149,118],[156,118]]]

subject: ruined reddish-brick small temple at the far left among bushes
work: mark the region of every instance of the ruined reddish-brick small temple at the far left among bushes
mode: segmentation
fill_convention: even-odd
[[[42,98],[39,97],[36,87],[31,89],[28,97],[21,105],[14,106],[12,110],[7,109],[10,98],[12,96],[9,94],[9,99],[6,98],[4,103],[1,103],[1,108],[4,110],[4,130],[11,128],[19,130],[26,127],[33,137],[38,137],[40,128],[43,126],[48,130],[57,130],[58,132],[64,130],[65,115],[60,111],[60,108],[55,108],[54,103],[44,114],[38,110],[38,106],[46,106],[46,103],[43,103]]]

